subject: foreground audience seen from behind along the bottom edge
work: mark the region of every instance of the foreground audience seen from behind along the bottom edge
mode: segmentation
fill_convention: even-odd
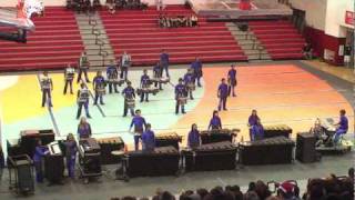
[[[148,200],[149,198],[123,197],[111,200]],[[152,200],[353,200],[354,199],[354,168],[348,170],[348,176],[310,179],[306,191],[302,194],[296,181],[282,183],[261,180],[250,182],[247,191],[242,192],[239,186],[215,187],[207,189],[187,190],[179,194],[160,191]]]

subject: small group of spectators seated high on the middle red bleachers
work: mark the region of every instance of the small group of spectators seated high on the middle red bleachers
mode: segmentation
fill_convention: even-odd
[[[160,28],[196,27],[197,17],[191,16],[165,16],[160,14],[158,23]]]

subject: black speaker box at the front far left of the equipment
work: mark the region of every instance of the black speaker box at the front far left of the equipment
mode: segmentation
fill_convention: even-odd
[[[21,192],[34,191],[34,180],[30,164],[19,164],[18,169],[18,189]]]

